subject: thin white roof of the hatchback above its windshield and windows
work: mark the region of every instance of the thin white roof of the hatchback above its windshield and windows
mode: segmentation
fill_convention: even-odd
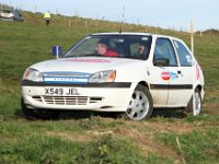
[[[154,33],[132,33],[132,32],[113,32],[113,33],[95,33],[91,34],[92,36],[99,36],[99,35],[137,35],[137,36],[152,36],[152,37],[165,37],[165,38],[172,38],[172,39],[177,39],[181,40],[180,38],[173,37],[173,36],[168,36],[168,35],[161,35],[161,34],[154,34]]]

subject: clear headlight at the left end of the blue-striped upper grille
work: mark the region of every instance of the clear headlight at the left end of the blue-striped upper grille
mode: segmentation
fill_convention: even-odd
[[[39,73],[37,70],[28,68],[24,72],[23,80],[30,80],[35,82],[43,82],[43,74]]]

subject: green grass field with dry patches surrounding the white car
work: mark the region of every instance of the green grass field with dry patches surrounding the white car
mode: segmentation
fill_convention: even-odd
[[[219,35],[195,35],[195,56],[206,79],[200,117],[158,110],[150,120],[135,122],[93,114],[79,119],[73,113],[65,113],[57,120],[30,121],[20,107],[24,70],[54,58],[54,45],[67,50],[87,34],[117,32],[119,25],[59,15],[45,26],[41,14],[23,14],[24,23],[0,22],[0,164],[218,163]],[[157,31],[189,45],[187,33],[129,24],[123,28]]]

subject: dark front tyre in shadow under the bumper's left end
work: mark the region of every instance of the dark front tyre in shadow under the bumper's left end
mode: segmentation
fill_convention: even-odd
[[[24,99],[21,99],[21,109],[24,113],[26,119],[55,119],[59,116],[58,112],[46,110],[46,109],[30,109],[24,104]]]

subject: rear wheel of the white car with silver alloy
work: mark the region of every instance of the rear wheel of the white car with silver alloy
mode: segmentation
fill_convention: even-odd
[[[193,116],[199,116],[201,113],[201,96],[198,87],[195,89],[191,101],[185,108],[185,113],[193,114]]]

